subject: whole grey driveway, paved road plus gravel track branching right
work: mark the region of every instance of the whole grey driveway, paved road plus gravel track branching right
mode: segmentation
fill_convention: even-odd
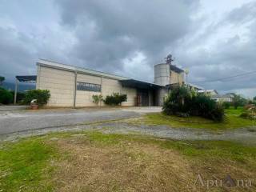
[[[26,107],[20,106],[0,106],[0,140],[13,140],[53,131],[98,130],[106,134],[144,134],[177,140],[226,140],[256,145],[255,126],[214,132],[170,126],[139,126],[122,121],[127,118],[138,118],[145,113],[160,112],[161,107],[25,109]]]

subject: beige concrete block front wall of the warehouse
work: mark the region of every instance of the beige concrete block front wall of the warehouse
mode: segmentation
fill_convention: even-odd
[[[76,95],[76,106],[96,106],[92,96],[94,94],[106,95],[113,93],[127,94],[127,102],[122,106],[134,106],[137,90],[122,87],[117,79],[102,78],[90,74],[77,74],[77,82],[89,82],[102,85],[101,92],[77,90],[75,93],[75,73],[72,71],[58,70],[46,66],[38,66],[37,89],[50,90],[50,101],[48,106],[74,106],[74,95]],[[103,106],[102,102],[102,106]]]

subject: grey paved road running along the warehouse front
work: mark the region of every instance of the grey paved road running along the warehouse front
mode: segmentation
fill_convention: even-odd
[[[3,108],[3,107],[2,107]],[[161,108],[151,108],[159,111]],[[72,126],[86,122],[138,117],[145,113],[143,108],[83,109],[83,110],[0,110],[0,134],[23,130]],[[146,110],[150,112],[150,108]]]

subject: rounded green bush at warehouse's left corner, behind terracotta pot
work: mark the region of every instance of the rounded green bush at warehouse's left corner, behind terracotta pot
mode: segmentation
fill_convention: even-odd
[[[50,90],[28,90],[25,94],[24,103],[29,105],[33,99],[36,99],[38,106],[43,106],[49,98]]]

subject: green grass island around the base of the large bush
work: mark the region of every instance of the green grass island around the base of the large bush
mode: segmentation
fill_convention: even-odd
[[[185,128],[205,128],[210,130],[226,130],[246,126],[256,126],[255,121],[239,117],[240,114],[242,114],[242,108],[238,108],[237,110],[230,108],[225,110],[225,114],[226,117],[224,122],[214,122],[200,117],[181,118],[174,115],[155,113],[146,114],[142,119],[139,119],[137,122],[134,121],[134,123]]]

